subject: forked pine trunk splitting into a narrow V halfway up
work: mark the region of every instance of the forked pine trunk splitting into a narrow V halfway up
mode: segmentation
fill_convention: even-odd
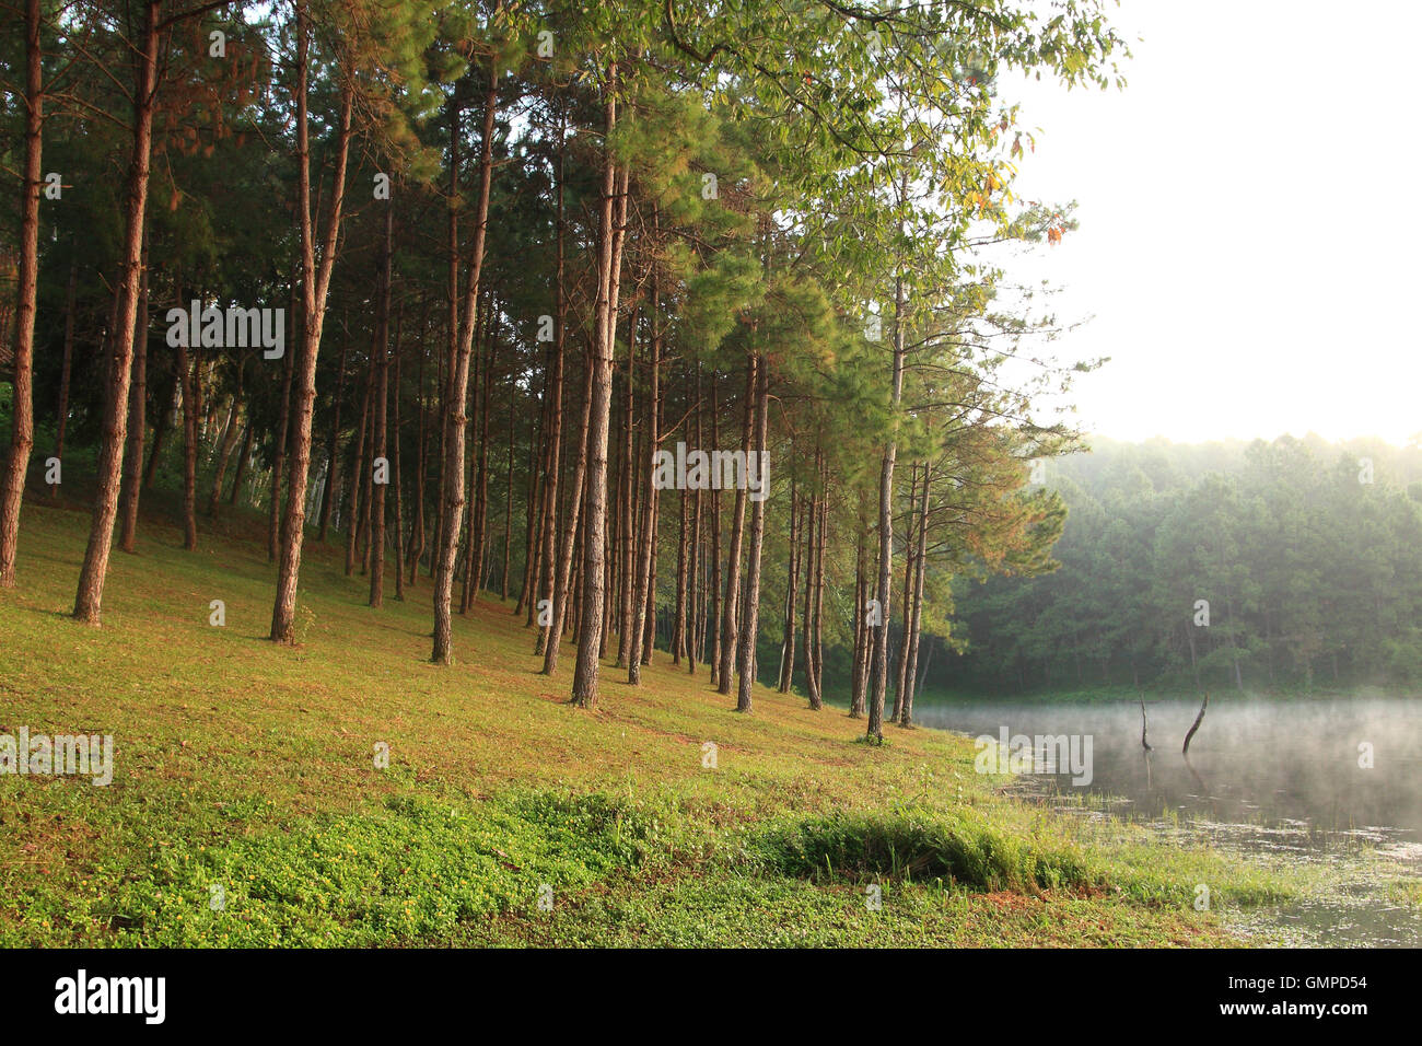
[[[341,228],[341,204],[346,198],[346,162],[350,157],[351,110],[350,87],[341,88],[341,117],[336,145],[336,174],[326,238],[321,246],[320,270],[316,266],[316,241],[311,229],[311,158],[306,118],[306,81],[309,74],[307,24],[304,0],[297,0],[297,70],[296,70],[296,135],[297,185],[301,209],[301,360],[296,370],[296,431],[292,441],[292,465],[286,484],[286,509],[282,514],[282,555],[277,559],[276,599],[272,605],[272,639],[277,643],[294,640],[296,592],[301,571],[301,542],[306,537],[306,482],[311,467],[311,411],[316,404],[316,357],[321,349],[321,327],[326,319],[326,297],[336,265],[336,246]]]

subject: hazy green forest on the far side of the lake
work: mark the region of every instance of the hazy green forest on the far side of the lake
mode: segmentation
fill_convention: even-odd
[[[1061,568],[956,583],[968,649],[930,690],[1422,682],[1416,440],[1098,440],[1045,484],[1069,509]]]

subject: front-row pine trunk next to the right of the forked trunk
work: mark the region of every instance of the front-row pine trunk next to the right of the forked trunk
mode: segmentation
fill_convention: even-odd
[[[451,601],[454,598],[454,568],[459,541],[459,517],[465,502],[465,400],[469,391],[469,357],[474,353],[475,306],[479,300],[479,280],[483,273],[483,243],[489,229],[489,186],[493,181],[493,125],[499,104],[499,77],[496,63],[492,58],[489,61],[488,78],[489,85],[483,98],[483,137],[479,142],[479,199],[475,209],[474,245],[464,290],[466,322],[461,330],[458,352],[451,359],[452,366],[445,389],[444,480],[439,485],[444,497],[444,508],[439,514],[439,564],[435,569],[434,591],[435,629],[434,649],[429,655],[429,659],[435,665],[449,665],[454,660]]]

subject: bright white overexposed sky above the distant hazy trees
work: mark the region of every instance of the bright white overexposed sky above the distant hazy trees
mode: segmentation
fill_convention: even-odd
[[[1142,440],[1422,431],[1422,4],[1123,0],[1125,91],[1004,81],[1017,184],[1081,229],[1008,262],[1062,287],[1076,421]],[[1138,38],[1139,37],[1139,38]]]

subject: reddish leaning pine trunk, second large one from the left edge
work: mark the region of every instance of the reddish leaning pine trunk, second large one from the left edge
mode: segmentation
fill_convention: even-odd
[[[88,548],[84,551],[84,566],[80,571],[78,591],[74,596],[74,616],[88,625],[98,625],[102,616],[104,579],[108,574],[109,544],[114,539],[114,518],[118,515],[118,487],[122,470],[124,437],[127,434],[128,380],[134,356],[134,326],[138,319],[138,289],[142,269],[144,223],[148,212],[148,169],[154,144],[154,95],[158,90],[158,20],[161,0],[145,4],[145,24],[138,54],[138,75],[134,87],[134,151],[128,169],[128,205],[124,222],[121,305],[118,327],[114,332],[114,353],[109,357],[111,371],[104,396],[104,441],[100,445],[97,492],[94,497],[94,518],[90,524]],[[27,186],[28,188],[28,186]],[[28,320],[33,336],[33,315]],[[18,363],[18,359],[17,359]],[[30,417],[28,361],[24,370],[24,394],[16,396],[17,417],[24,413],[24,424]],[[16,367],[16,384],[20,381],[20,367]],[[18,389],[17,389],[18,393]],[[28,461],[28,443],[24,441],[21,457]],[[18,448],[17,448],[18,450]],[[13,467],[11,467],[13,468]],[[13,480],[10,481],[13,482]],[[23,474],[20,475],[23,484]],[[18,515],[18,491],[6,498],[7,511],[14,504]],[[13,566],[13,552],[10,571]]]

